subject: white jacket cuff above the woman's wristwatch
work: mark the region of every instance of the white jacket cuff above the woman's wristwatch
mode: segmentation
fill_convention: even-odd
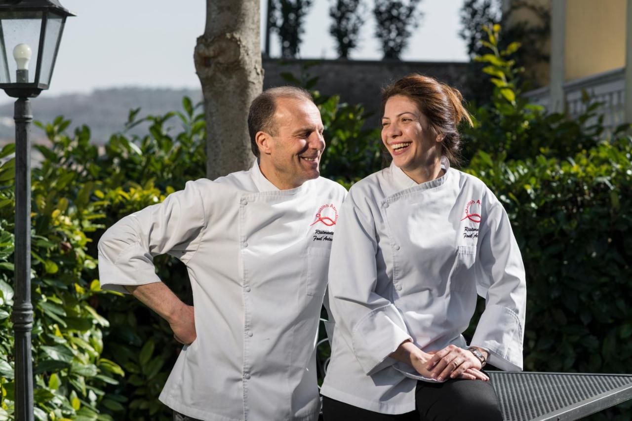
[[[487,363],[505,371],[522,371],[523,329],[518,315],[501,305],[488,305],[480,316],[470,346],[489,350]]]

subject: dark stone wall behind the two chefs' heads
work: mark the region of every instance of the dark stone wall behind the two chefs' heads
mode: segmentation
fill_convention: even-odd
[[[319,76],[316,87],[324,95],[339,94],[342,101],[364,104],[367,111],[380,107],[380,88],[409,73],[434,76],[458,88],[468,98],[465,85],[468,63],[368,61],[368,60],[286,60],[264,59],[264,88],[287,85],[281,73],[289,72],[297,78],[306,63],[315,63],[307,69],[310,76]],[[306,70],[302,70],[305,73]]]

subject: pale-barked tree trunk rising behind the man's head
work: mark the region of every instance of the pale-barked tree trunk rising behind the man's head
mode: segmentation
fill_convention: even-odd
[[[207,178],[248,169],[254,156],[248,108],[260,94],[259,2],[207,0],[206,28],[193,58],[202,83],[207,125]]]

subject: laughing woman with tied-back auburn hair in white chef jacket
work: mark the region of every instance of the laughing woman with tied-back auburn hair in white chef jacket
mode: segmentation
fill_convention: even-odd
[[[356,183],[332,244],[325,421],[501,420],[485,363],[522,369],[525,271],[506,212],[450,167],[459,92],[409,75],[382,95],[389,168]],[[485,297],[469,346],[461,335]]]

